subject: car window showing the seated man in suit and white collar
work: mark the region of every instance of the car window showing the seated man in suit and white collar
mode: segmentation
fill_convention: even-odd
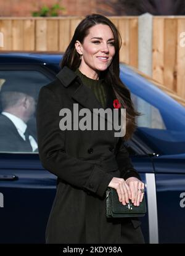
[[[38,152],[36,103],[50,81],[37,70],[0,70],[0,152]]]

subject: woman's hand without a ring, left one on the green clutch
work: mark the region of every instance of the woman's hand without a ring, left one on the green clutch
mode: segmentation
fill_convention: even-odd
[[[119,200],[123,205],[129,203],[128,200],[131,199],[131,190],[123,178],[113,177],[108,187],[117,190]]]

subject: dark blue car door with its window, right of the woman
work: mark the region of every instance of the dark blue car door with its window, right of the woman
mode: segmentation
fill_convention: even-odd
[[[152,103],[151,97],[133,96],[138,111],[144,114],[138,118],[136,135],[153,151],[149,155],[156,194],[149,202],[153,204],[149,207],[149,223],[155,237],[158,234],[154,240],[184,243],[185,109],[165,95],[163,101]],[[155,218],[150,217],[150,208],[157,212]]]

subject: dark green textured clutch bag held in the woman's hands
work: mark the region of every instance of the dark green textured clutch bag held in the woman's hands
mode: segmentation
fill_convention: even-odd
[[[106,214],[107,218],[144,217],[146,213],[145,196],[139,206],[134,206],[131,200],[123,205],[118,197],[116,189],[107,188],[106,191]]]

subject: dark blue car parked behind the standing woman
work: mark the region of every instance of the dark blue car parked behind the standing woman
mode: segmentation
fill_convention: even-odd
[[[1,53],[0,89],[29,86],[35,90],[36,102],[39,89],[59,72],[61,57],[49,53]],[[146,184],[147,214],[141,218],[145,240],[184,243],[184,101],[180,104],[175,100],[178,96],[168,90],[164,93],[155,81],[125,64],[120,64],[120,78],[130,89],[136,109],[142,113],[126,147],[134,168]],[[4,102],[0,103],[3,112]],[[35,115],[28,120],[28,126],[36,138]],[[1,129],[0,123],[0,133]],[[4,141],[9,141],[7,146]],[[42,167],[36,149],[14,146],[15,141],[10,141],[9,136],[1,138],[0,243],[44,243],[57,178]]]

